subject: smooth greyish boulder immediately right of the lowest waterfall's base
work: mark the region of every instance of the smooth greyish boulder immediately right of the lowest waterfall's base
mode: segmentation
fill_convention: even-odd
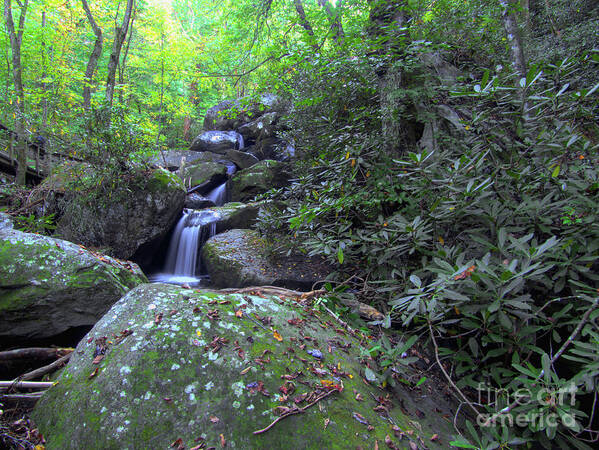
[[[317,258],[269,254],[266,240],[256,230],[234,229],[211,237],[202,247],[202,261],[218,287],[309,290],[328,275],[328,267]]]

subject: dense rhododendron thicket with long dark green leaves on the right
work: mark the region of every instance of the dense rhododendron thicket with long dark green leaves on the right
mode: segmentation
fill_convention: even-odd
[[[463,132],[400,157],[378,151],[368,67],[350,57],[321,68],[322,81],[303,73],[292,122],[307,158],[277,197],[286,209],[263,218],[337,263],[339,280],[354,274],[356,295],[386,304],[393,323],[429,335],[464,395],[503,393],[469,400],[496,423],[470,427],[484,448],[593,437],[581,400],[593,403],[599,380],[599,86],[571,90],[575,67],[422,89],[423,103],[460,112]],[[572,404],[555,400],[572,390]]]

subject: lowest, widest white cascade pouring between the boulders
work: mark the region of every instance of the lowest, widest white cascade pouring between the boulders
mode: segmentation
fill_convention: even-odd
[[[219,220],[220,215],[210,209],[183,210],[183,217],[177,223],[169,244],[165,271],[153,276],[152,280],[198,284],[203,278],[200,250],[216,234],[216,222]]]

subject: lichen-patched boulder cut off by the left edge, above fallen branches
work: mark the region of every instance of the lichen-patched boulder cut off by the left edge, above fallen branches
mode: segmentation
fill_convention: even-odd
[[[61,239],[0,229],[0,338],[46,338],[92,326],[146,281],[134,263]]]

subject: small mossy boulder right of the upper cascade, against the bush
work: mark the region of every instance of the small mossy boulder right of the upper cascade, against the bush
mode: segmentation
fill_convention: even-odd
[[[245,202],[256,195],[286,186],[289,182],[289,166],[286,163],[264,160],[241,170],[233,176],[231,200]]]

